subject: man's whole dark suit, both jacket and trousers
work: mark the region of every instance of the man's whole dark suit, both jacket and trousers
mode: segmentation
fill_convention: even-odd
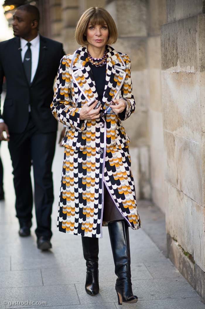
[[[37,237],[51,237],[53,203],[52,160],[57,122],[52,116],[53,83],[65,52],[61,43],[40,36],[38,67],[28,84],[21,59],[20,39],[0,43],[0,93],[6,77],[2,118],[8,125],[8,147],[14,168],[16,211],[20,225],[31,222],[33,205],[30,170],[34,170]],[[29,112],[29,104],[31,112]]]

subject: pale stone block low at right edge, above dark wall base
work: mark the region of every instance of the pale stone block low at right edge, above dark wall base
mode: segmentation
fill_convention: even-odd
[[[193,240],[194,240],[194,260],[197,265],[205,271],[205,240],[204,240],[204,207],[193,201]]]

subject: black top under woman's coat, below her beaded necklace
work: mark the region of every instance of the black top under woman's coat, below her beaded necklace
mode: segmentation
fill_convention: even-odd
[[[105,90],[106,64],[96,67],[89,62],[89,66],[95,81],[96,91],[99,98],[98,100],[102,102],[103,93]]]

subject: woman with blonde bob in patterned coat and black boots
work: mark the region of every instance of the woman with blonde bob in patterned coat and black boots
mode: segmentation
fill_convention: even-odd
[[[85,289],[90,295],[99,292],[98,238],[102,225],[108,226],[118,304],[136,303],[128,226],[138,229],[141,222],[129,138],[121,122],[135,109],[130,59],[109,46],[117,40],[117,28],[101,7],[84,12],[76,40],[83,46],[61,60],[51,104],[55,118],[67,125],[57,226],[83,236]]]

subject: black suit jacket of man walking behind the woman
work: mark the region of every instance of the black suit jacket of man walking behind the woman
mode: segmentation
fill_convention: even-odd
[[[53,83],[60,59],[65,55],[63,45],[40,35],[39,62],[31,85],[28,84],[21,59],[20,39],[14,37],[0,42],[0,93],[3,77],[6,77],[6,98],[3,115],[10,133],[22,133],[29,119],[40,132],[57,130],[50,105],[53,99]]]

